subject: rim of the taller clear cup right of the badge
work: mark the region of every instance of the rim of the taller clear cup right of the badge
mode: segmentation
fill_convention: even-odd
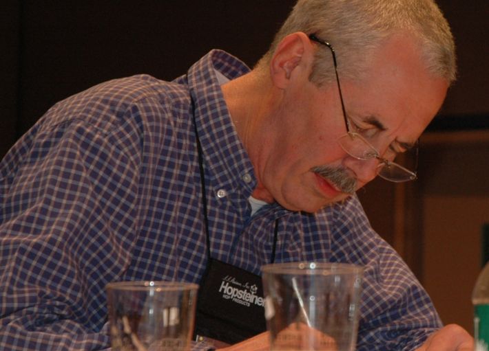
[[[311,274],[319,275],[327,273],[354,273],[362,274],[364,267],[359,264],[342,262],[281,262],[264,264],[261,267],[263,273],[278,274]]]

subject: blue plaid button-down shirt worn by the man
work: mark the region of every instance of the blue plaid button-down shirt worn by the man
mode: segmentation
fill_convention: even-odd
[[[358,350],[413,350],[441,323],[356,196],[315,214],[266,205],[216,78],[249,71],[214,50],[174,82],[134,76],[54,105],[0,164],[0,348],[108,348],[105,284],[199,282],[202,142],[214,258],[254,273],[322,260],[366,267]],[[192,104],[192,101],[194,104]]]

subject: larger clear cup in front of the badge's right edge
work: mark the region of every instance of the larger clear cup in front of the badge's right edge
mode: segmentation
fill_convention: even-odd
[[[362,267],[289,262],[262,272],[271,350],[355,350]]]

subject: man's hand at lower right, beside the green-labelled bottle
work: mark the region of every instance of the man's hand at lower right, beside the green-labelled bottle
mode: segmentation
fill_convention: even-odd
[[[474,339],[457,324],[448,324],[434,332],[416,351],[472,351]]]

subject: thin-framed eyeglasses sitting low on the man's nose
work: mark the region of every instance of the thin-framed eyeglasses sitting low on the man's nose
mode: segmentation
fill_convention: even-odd
[[[309,39],[311,41],[315,41],[316,43],[320,43],[328,47],[331,50],[331,54],[333,55],[333,66],[335,67],[335,75],[336,75],[336,83],[338,86],[338,92],[340,93],[340,102],[342,105],[342,113],[344,118],[344,123],[346,126],[346,134],[342,135],[337,139],[338,144],[342,147],[342,149],[351,157],[355,157],[355,159],[368,160],[368,159],[377,159],[379,161],[379,165],[377,166],[377,175],[386,179],[387,181],[393,181],[395,183],[401,183],[403,181],[413,181],[417,179],[417,172],[413,172],[399,165],[398,163],[389,161],[388,159],[384,159],[380,156],[380,153],[377,149],[368,142],[362,135],[351,131],[350,122],[346,117],[346,111],[344,109],[343,95],[342,89],[340,86],[340,78],[338,77],[337,71],[337,63],[336,63],[336,55],[335,49],[331,46],[330,43],[326,41],[322,41],[320,38],[315,36],[315,34],[310,34]],[[416,166],[417,169],[417,158],[418,158],[418,143],[415,145],[416,152]]]

